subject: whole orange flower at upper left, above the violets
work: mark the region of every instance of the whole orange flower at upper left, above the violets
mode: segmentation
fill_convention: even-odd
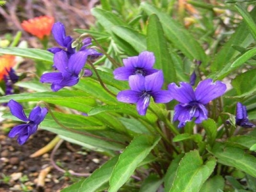
[[[53,23],[54,18],[45,15],[35,17],[34,19],[24,20],[21,26],[28,33],[31,33],[32,35],[35,35],[38,38],[43,39],[44,36],[49,36],[51,34]]]

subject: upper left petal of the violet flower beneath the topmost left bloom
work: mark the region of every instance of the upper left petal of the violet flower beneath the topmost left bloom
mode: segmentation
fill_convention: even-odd
[[[68,72],[68,56],[65,51],[56,52],[53,58],[54,67],[60,72]]]

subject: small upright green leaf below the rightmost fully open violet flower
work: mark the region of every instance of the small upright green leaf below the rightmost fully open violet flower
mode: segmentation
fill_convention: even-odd
[[[208,118],[207,120],[202,122],[202,125],[204,127],[204,130],[207,135],[207,140],[212,145],[216,139],[217,136],[217,126],[216,122],[212,120],[211,118]]]

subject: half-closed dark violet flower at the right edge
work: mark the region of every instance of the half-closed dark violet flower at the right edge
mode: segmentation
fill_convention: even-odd
[[[243,106],[241,102],[236,104],[236,125],[244,128],[255,127],[255,125],[249,122],[246,106]]]

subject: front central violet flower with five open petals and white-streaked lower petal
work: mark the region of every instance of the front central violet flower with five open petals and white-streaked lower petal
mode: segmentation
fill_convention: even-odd
[[[131,90],[119,92],[117,100],[120,102],[136,103],[138,113],[146,115],[150,97],[153,97],[156,103],[166,103],[172,100],[168,90],[161,90],[163,83],[164,77],[161,70],[146,77],[130,76],[129,85]]]

